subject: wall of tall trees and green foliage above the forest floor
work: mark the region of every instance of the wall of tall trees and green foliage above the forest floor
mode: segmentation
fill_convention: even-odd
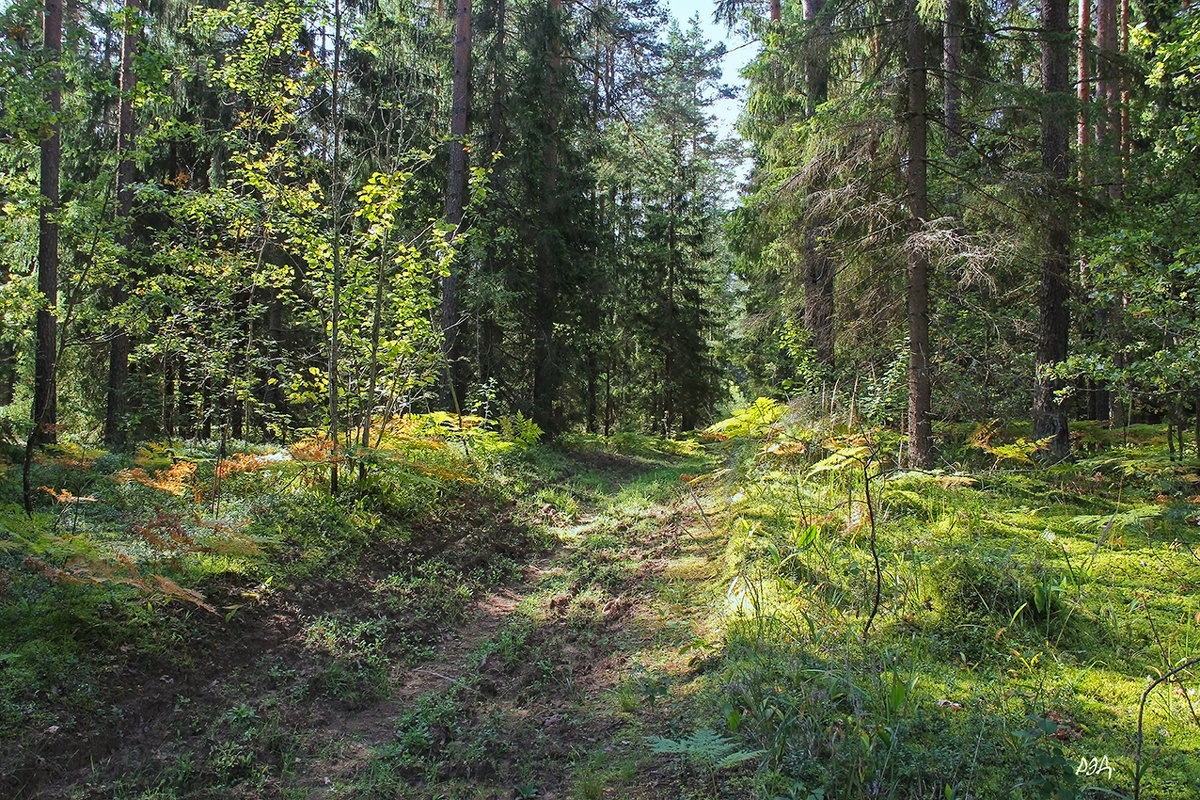
[[[652,1],[60,11],[0,35],[23,440],[674,434],[840,387],[929,465],[943,422],[1062,458],[1200,390],[1187,6],[719,4],[740,139]]]

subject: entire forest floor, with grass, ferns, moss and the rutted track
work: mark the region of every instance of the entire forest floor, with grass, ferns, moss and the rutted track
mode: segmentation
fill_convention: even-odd
[[[1195,796],[1200,463],[797,409],[10,452],[2,793]]]

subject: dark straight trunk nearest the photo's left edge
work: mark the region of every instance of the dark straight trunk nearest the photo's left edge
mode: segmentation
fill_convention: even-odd
[[[59,167],[62,161],[60,139],[62,110],[62,5],[46,0],[42,17],[42,47],[55,65],[50,77],[49,106],[54,115],[48,136],[41,144],[42,207],[37,217],[37,290],[42,307],[37,311],[36,349],[34,354],[34,439],[40,444],[58,441],[58,311],[59,302]]]

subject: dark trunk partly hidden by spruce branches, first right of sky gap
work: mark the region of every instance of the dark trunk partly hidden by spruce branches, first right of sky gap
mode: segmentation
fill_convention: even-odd
[[[805,47],[804,78],[808,84],[805,115],[811,118],[829,98],[829,22],[821,16],[826,0],[804,0],[804,19],[811,25]],[[823,170],[822,170],[823,172]],[[814,176],[816,178],[816,176]],[[808,196],[814,203],[820,186],[809,182]],[[829,218],[824,212],[808,215],[804,228],[804,327],[812,337],[817,361],[834,362],[834,269],[827,240]]]

